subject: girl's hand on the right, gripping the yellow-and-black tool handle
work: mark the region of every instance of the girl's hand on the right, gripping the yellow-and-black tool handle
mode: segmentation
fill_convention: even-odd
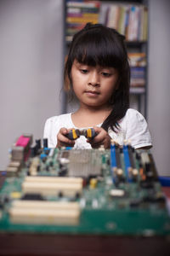
[[[99,148],[101,145],[104,145],[104,148],[110,148],[111,147],[111,137],[101,127],[94,127],[95,132],[97,133],[97,136],[94,137],[94,139],[88,139],[87,143],[90,143],[92,148]]]

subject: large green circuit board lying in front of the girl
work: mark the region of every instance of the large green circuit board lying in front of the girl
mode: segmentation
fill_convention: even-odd
[[[0,232],[170,233],[166,197],[149,151],[129,145],[23,148],[12,149],[1,173]]]

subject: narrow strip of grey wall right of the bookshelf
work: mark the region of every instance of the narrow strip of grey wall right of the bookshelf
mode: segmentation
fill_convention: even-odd
[[[148,122],[160,175],[170,175],[170,2],[150,0]]]

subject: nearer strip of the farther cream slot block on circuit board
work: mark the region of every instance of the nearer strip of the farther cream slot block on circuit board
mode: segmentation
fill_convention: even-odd
[[[82,194],[82,183],[24,182],[22,191],[25,194],[59,195],[62,193],[64,196],[75,196]]]

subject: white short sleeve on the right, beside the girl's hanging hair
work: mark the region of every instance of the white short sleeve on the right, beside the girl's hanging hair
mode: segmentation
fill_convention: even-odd
[[[128,109],[126,114],[126,140],[133,148],[152,146],[150,131],[144,116],[137,110]]]

